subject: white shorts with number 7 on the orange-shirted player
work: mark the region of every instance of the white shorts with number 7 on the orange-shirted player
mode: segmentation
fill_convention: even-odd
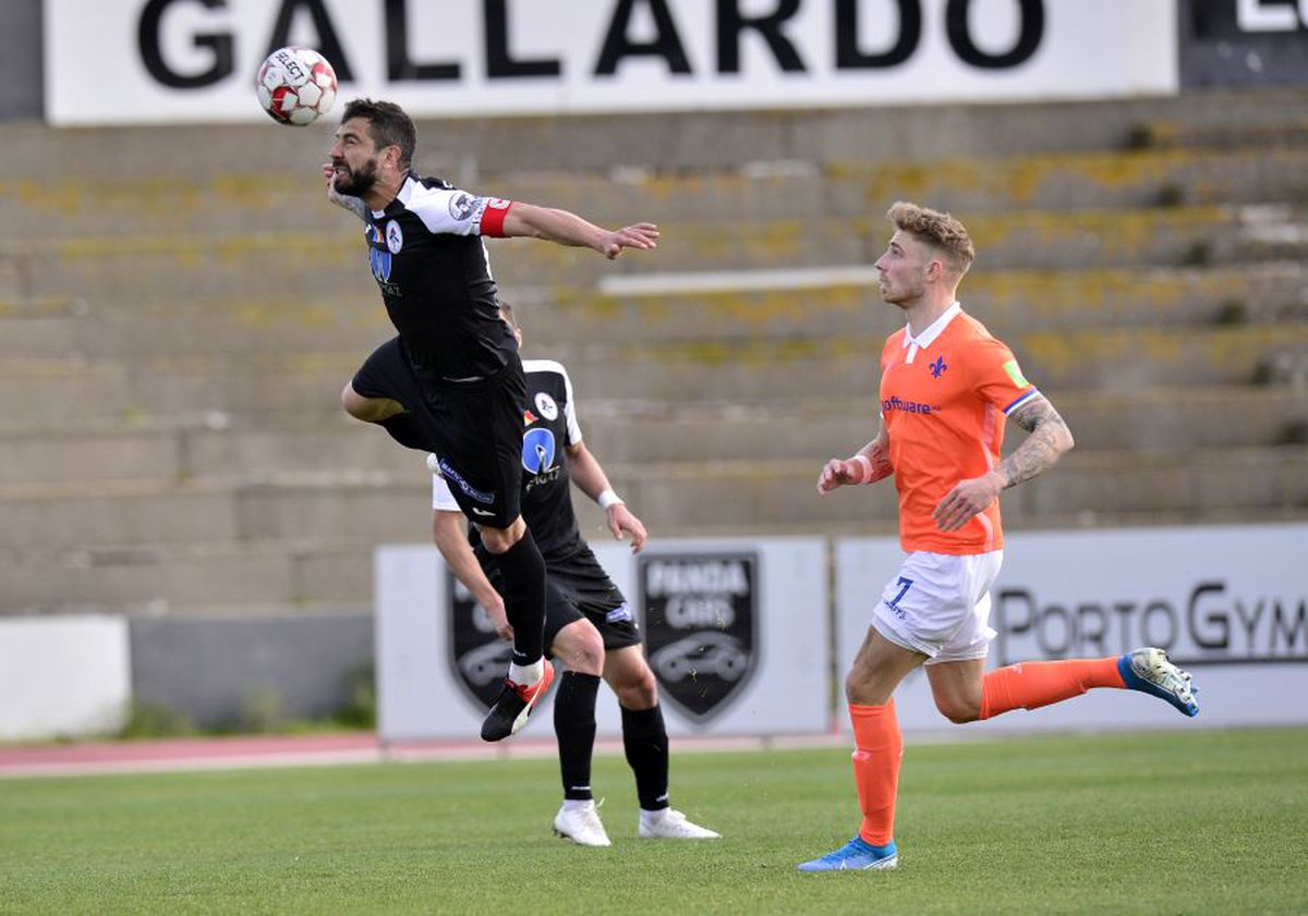
[[[910,553],[882,592],[872,626],[886,639],[930,656],[926,664],[984,659],[990,629],[990,585],[1003,550],[955,557]]]

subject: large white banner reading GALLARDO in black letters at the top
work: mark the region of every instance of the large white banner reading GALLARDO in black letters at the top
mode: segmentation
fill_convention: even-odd
[[[1116,98],[1177,90],[1175,0],[44,0],[55,124],[264,118],[323,51],[345,98],[551,115]]]

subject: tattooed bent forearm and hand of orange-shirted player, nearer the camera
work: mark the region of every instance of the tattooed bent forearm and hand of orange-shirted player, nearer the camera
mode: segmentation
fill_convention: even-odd
[[[1044,396],[1032,397],[1008,417],[1029,435],[1012,455],[981,477],[959,481],[933,514],[940,531],[957,531],[1007,490],[1052,468],[1073,447],[1071,430]]]

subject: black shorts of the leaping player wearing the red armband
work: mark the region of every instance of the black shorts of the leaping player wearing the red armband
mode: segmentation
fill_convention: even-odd
[[[479,525],[508,528],[522,514],[522,414],[527,383],[518,355],[473,384],[424,379],[399,337],[377,348],[351,383],[364,397],[404,405],[422,447],[434,452],[450,493]]]

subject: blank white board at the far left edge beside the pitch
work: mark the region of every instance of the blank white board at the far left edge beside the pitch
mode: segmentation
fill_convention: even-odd
[[[131,700],[127,621],[0,621],[0,740],[107,734]]]

